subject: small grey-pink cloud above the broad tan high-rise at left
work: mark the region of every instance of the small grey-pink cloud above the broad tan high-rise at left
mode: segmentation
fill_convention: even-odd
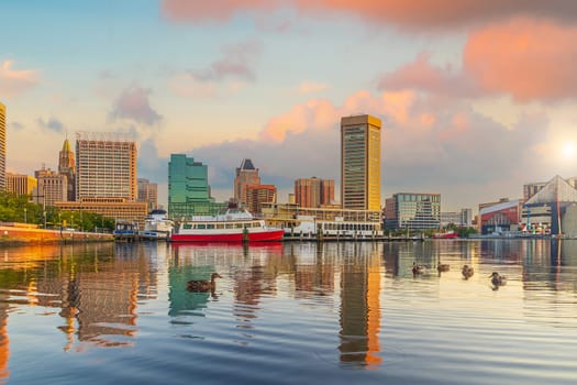
[[[159,116],[152,107],[148,96],[151,89],[131,86],[122,91],[120,97],[112,106],[110,112],[111,119],[130,119],[137,123],[154,125],[163,117]]]

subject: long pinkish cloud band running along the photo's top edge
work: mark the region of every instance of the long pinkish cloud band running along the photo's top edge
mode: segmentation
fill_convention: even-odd
[[[301,14],[354,14],[413,30],[446,30],[515,15],[573,22],[577,15],[577,3],[573,0],[163,0],[160,7],[163,14],[176,22],[224,22],[241,13],[262,15],[292,8]]]

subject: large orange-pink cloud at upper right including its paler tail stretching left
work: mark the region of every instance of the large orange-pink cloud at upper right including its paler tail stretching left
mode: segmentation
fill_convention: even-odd
[[[507,95],[518,102],[577,96],[577,26],[513,19],[474,29],[459,68],[434,66],[430,57],[430,53],[421,53],[414,62],[385,74],[377,88],[450,98]]]

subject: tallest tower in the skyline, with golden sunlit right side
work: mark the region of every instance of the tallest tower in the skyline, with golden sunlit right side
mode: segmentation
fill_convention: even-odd
[[[343,209],[380,210],[380,119],[341,119],[341,204]]]

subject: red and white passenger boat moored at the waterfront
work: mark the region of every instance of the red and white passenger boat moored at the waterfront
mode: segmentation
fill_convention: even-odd
[[[285,231],[268,228],[244,209],[229,209],[215,217],[195,216],[181,221],[170,235],[173,242],[280,241]]]

